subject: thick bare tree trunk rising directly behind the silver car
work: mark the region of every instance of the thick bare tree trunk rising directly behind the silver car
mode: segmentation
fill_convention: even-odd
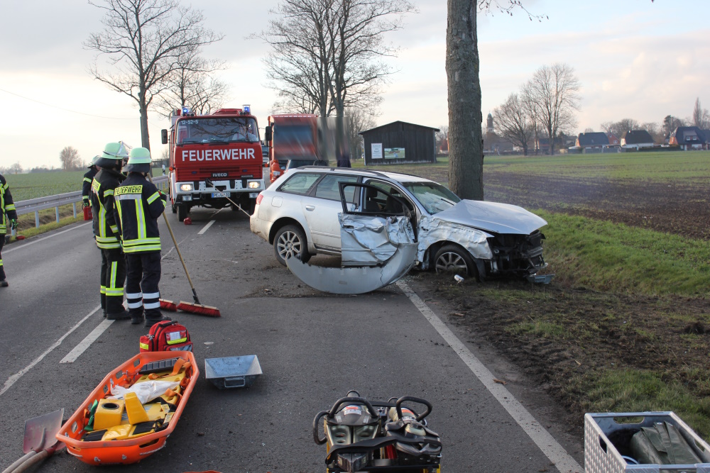
[[[476,0],[448,0],[449,188],[461,199],[484,199],[481,84]]]

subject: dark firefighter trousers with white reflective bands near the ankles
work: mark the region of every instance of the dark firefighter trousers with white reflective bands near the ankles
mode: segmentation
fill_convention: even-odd
[[[145,309],[146,318],[162,318],[160,313],[160,252],[126,253],[126,301],[131,317],[138,318]]]

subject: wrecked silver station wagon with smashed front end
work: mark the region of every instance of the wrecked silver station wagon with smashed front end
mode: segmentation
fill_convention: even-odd
[[[250,226],[286,265],[294,255],[301,262],[318,253],[342,255],[344,225],[366,225],[373,217],[408,218],[420,269],[486,279],[532,277],[547,266],[542,218],[510,204],[462,200],[437,182],[396,172],[291,169],[259,194]],[[344,259],[343,265],[376,260]]]

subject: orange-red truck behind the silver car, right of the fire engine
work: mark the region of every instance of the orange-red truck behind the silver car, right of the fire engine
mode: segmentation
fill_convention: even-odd
[[[268,118],[265,137],[271,182],[287,170],[287,165],[323,164],[318,125],[318,116],[310,113],[280,113]]]

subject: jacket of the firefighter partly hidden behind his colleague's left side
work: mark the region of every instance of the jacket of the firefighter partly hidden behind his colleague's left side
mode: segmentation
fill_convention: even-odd
[[[114,213],[114,189],[126,179],[114,169],[102,168],[91,184],[91,206],[94,209],[96,245],[104,250],[120,248],[119,227]]]

